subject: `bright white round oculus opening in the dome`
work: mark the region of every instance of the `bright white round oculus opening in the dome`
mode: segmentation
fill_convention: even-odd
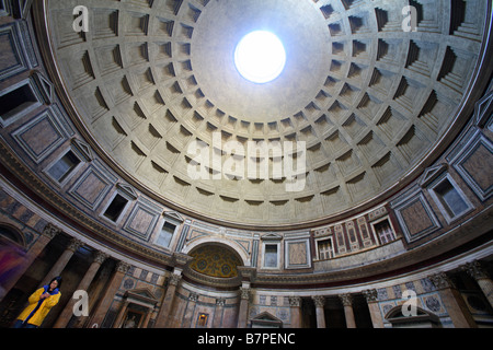
[[[271,32],[256,31],[245,35],[234,51],[240,74],[254,83],[267,83],[283,72],[286,51],[279,38]]]

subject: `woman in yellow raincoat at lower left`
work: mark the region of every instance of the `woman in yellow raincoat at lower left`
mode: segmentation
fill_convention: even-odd
[[[54,278],[49,284],[39,288],[28,299],[30,304],[19,315],[13,328],[38,328],[53,306],[58,304],[61,278]]]

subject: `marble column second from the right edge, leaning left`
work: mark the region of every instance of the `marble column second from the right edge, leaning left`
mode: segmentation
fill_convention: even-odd
[[[439,291],[454,326],[456,328],[477,328],[478,325],[451,279],[445,272],[429,276],[428,279]]]

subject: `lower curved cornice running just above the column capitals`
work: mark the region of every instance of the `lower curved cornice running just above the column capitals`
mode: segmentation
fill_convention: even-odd
[[[98,238],[103,238],[112,245],[119,247],[123,250],[137,255],[137,258],[144,260],[152,260],[158,266],[168,265],[174,266],[176,264],[175,255],[165,255],[150,248],[144,244],[130,241],[117,232],[111,231],[101,225],[96,220],[91,219],[83,212],[74,208],[71,203],[66,201],[61,196],[55,192],[51,188],[46,186],[24,163],[13,154],[12,150],[0,140],[0,161],[3,166],[15,176],[16,179],[27,185],[44,201],[53,206],[58,212],[70,218],[72,222],[77,222],[83,226],[82,232],[90,232],[90,235],[95,235]],[[282,288],[285,285],[296,285],[298,288],[314,288],[317,285],[337,284],[347,282],[357,282],[360,280],[371,280],[378,276],[397,276],[402,273],[402,270],[412,270],[413,266],[420,268],[423,264],[433,265],[440,259],[439,255],[451,254],[456,248],[467,245],[474,238],[480,238],[486,235],[493,229],[493,208],[489,207],[468,222],[451,230],[436,240],[420,246],[406,253],[388,258],[386,260],[372,262],[369,265],[362,265],[355,268],[348,268],[339,271],[328,271],[321,273],[252,273],[251,282],[255,287],[273,285]],[[491,241],[491,240],[490,240]],[[217,279],[208,278],[193,270],[185,268],[186,276],[197,282],[217,287],[231,288],[241,283],[241,279]]]

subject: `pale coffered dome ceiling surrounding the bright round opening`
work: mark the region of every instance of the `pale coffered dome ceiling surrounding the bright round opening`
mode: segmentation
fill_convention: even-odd
[[[47,27],[77,122],[119,175],[192,215],[282,228],[389,197],[459,130],[481,45],[444,39],[428,7],[416,31],[393,1],[115,2],[64,36],[71,11],[50,1]],[[234,63],[252,31],[285,46],[268,83]]]

